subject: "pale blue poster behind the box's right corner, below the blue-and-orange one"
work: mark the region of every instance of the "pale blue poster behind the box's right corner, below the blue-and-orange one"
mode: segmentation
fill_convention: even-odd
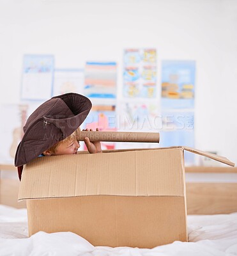
[[[160,147],[194,147],[194,111],[162,111]],[[185,153],[185,164],[194,164],[194,154]]]

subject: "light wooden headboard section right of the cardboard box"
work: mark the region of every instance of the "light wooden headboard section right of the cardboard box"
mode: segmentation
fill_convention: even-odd
[[[234,167],[193,166],[186,173],[236,173]],[[224,214],[237,212],[237,182],[187,182],[188,214]]]

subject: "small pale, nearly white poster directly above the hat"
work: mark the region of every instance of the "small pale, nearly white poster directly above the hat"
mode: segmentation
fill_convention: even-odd
[[[64,93],[83,93],[84,70],[83,69],[56,69],[54,70],[53,96]]]

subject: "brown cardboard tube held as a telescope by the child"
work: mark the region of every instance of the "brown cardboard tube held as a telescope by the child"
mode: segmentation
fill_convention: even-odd
[[[159,132],[109,132],[109,131],[80,131],[77,140],[88,137],[90,141],[116,142],[155,142],[159,143]]]

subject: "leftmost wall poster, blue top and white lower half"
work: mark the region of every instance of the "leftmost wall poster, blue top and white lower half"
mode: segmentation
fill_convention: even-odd
[[[22,100],[47,100],[52,96],[54,56],[24,55]]]

